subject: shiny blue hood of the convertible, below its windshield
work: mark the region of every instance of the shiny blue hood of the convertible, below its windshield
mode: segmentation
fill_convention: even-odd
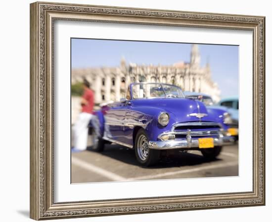
[[[190,115],[192,113],[204,113],[206,116],[201,121],[217,121],[217,116],[206,109],[205,105],[196,100],[187,98],[156,98],[140,99],[134,101],[134,106],[144,106],[146,109],[156,107],[165,110],[177,122],[199,121],[200,118]]]

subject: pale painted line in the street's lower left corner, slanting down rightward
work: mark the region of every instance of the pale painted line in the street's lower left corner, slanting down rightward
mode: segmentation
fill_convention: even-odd
[[[81,159],[79,159],[77,157],[74,157],[74,156],[72,156],[72,164],[77,165],[77,166],[79,166],[81,168],[84,168],[84,169],[86,169],[88,171],[92,171],[92,172],[94,172],[96,174],[100,174],[103,177],[111,179],[112,181],[127,181],[127,179],[124,178],[124,177],[121,177],[121,176],[119,176],[119,175],[117,175],[115,173],[104,170],[104,169],[102,169],[100,167],[97,167],[97,166],[95,166],[95,165],[93,165],[93,164],[91,164],[89,162],[83,161],[83,160],[81,160]]]

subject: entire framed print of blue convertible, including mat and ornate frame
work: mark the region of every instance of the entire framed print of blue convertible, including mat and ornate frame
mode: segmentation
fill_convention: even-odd
[[[30,5],[35,220],[265,204],[265,17]]]

